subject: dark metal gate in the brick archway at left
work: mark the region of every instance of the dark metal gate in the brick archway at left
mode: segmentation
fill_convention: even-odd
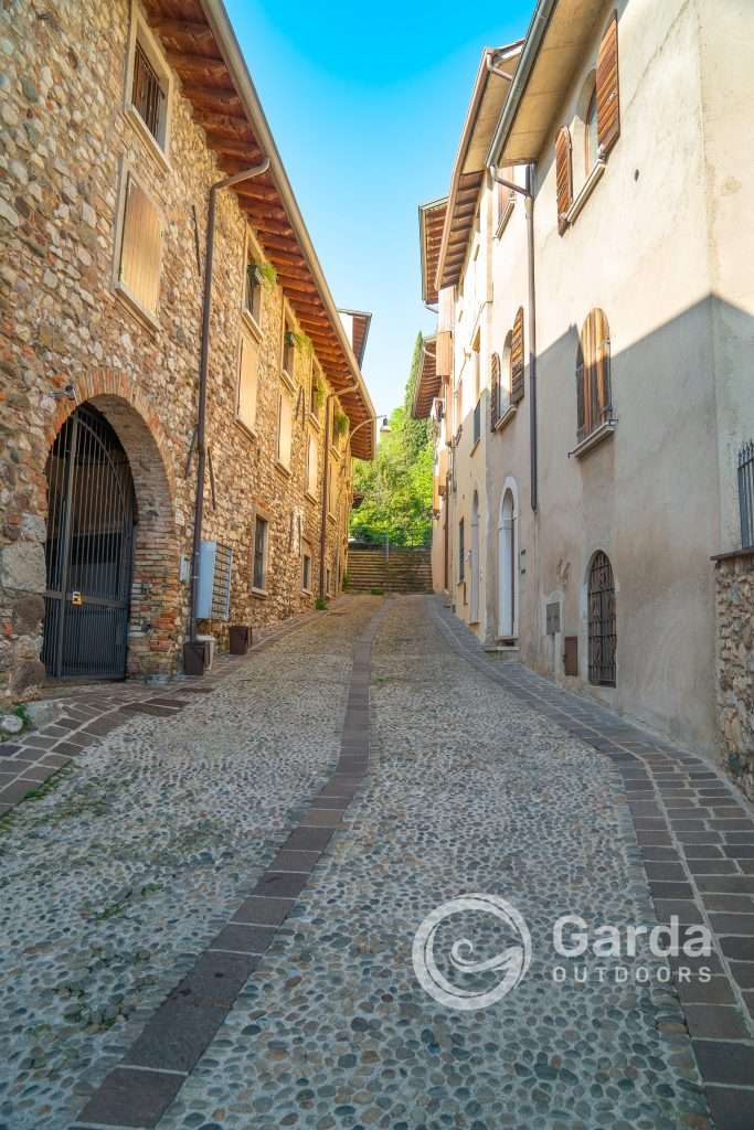
[[[125,676],[135,496],[128,458],[96,409],[78,408],[46,466],[47,673]]]

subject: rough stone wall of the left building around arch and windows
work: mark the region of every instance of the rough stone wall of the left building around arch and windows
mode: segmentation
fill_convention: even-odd
[[[190,554],[196,496],[202,298],[196,246],[198,236],[203,258],[208,191],[224,173],[177,77],[170,164],[156,158],[124,111],[128,40],[128,0],[9,0],[0,12],[0,699],[29,693],[44,675],[45,462],[63,420],[85,401],[115,428],[136,487],[129,669],[171,673],[181,662],[189,585],[179,580],[180,560]],[[113,281],[125,168],[163,217],[156,325]],[[233,547],[229,621],[253,625],[312,601],[301,586],[300,530],[312,544],[318,591],[324,426],[321,412],[319,426],[310,423],[312,359],[298,349],[291,472],[277,466],[279,287],[262,297],[255,434],[236,421],[245,241],[246,219],[226,191],[215,242],[208,400],[215,490],[208,477],[205,538]],[[319,436],[317,502],[304,489],[309,428]],[[327,522],[333,584],[338,553],[345,567],[347,443],[341,454],[337,519]],[[266,596],[251,592],[258,508],[270,522]],[[220,638],[226,631],[201,627]]]

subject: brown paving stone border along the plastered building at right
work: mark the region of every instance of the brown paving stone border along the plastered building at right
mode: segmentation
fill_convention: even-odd
[[[754,812],[704,758],[679,749],[519,663],[489,658],[437,598],[431,614],[469,663],[600,754],[621,773],[659,922],[678,915],[711,931],[697,959],[708,983],[678,980],[669,958],[717,1130],[754,1128]],[[684,965],[694,959],[684,957]]]

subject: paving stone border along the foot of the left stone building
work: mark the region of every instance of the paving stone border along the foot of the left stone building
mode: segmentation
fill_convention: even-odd
[[[306,612],[261,629],[260,638],[246,655],[218,655],[213,670],[201,679],[180,678],[159,686],[89,684],[51,694],[51,701],[61,706],[54,722],[26,730],[9,741],[0,741],[0,818],[64,768],[87,746],[129,722],[135,713],[170,718],[194,694],[214,690],[249,655],[265,651],[321,615]]]

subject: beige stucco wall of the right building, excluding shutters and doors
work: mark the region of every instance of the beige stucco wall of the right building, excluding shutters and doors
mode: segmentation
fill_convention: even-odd
[[[605,5],[605,21],[614,7]],[[742,145],[754,9],[743,0],[714,6],[622,0],[617,7],[622,134],[564,236],[556,223],[554,137],[560,125],[573,125],[601,26],[584,45],[581,70],[537,165],[538,511],[530,505],[527,364],[526,394],[515,416],[491,434],[487,400],[483,442],[474,455],[470,421],[463,426],[451,530],[456,536],[465,513],[468,531],[473,490],[484,480],[484,611],[477,631],[492,640],[499,616],[500,503],[513,480],[522,660],[712,753],[718,738],[709,558],[738,537],[735,452],[754,434],[754,236],[747,220],[754,157]],[[574,134],[578,191],[584,174],[578,129]],[[483,216],[489,206],[485,188]],[[486,237],[493,288],[480,325],[488,388],[489,356],[502,353],[519,306],[528,360],[523,201],[500,240],[491,229]],[[618,423],[599,446],[570,458],[577,445],[578,334],[593,307],[601,307],[609,322]],[[470,342],[463,318],[456,322],[456,336],[458,366]],[[466,403],[468,417],[473,406]],[[587,575],[597,549],[610,557],[616,579],[615,688],[591,687],[587,680]],[[451,559],[456,566],[456,553]],[[554,600],[562,605],[561,633],[548,636],[545,608]],[[468,606],[459,601],[458,611],[468,619]],[[578,678],[563,675],[564,635],[579,637]]]

